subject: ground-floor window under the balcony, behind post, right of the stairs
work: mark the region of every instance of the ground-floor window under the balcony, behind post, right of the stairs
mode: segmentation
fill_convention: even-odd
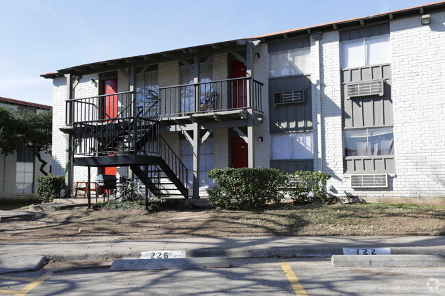
[[[209,187],[214,183],[209,178],[213,169],[213,138],[206,139],[199,148],[199,187]],[[181,161],[188,169],[188,184],[193,187],[193,147],[186,139],[181,140]]]

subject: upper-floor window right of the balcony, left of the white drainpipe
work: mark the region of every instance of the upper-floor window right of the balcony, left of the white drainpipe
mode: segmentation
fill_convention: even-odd
[[[270,53],[270,77],[303,75],[311,71],[311,49],[292,49]]]

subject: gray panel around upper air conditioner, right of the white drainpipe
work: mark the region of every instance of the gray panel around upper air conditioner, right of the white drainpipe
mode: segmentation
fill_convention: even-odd
[[[347,97],[346,84],[383,79],[383,96]],[[344,127],[392,126],[390,64],[342,70]]]

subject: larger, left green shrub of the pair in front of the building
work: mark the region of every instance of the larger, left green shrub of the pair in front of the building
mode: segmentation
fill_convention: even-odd
[[[218,186],[208,189],[209,204],[232,210],[251,210],[280,202],[287,176],[275,169],[226,167],[209,172]]]

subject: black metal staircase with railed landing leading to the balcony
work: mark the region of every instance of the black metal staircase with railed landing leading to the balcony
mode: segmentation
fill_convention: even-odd
[[[71,108],[100,105],[102,97],[73,100]],[[129,166],[155,196],[188,198],[188,170],[159,133],[159,99],[149,105],[136,112],[129,100],[114,118],[96,118],[97,112],[73,121],[74,164]]]

